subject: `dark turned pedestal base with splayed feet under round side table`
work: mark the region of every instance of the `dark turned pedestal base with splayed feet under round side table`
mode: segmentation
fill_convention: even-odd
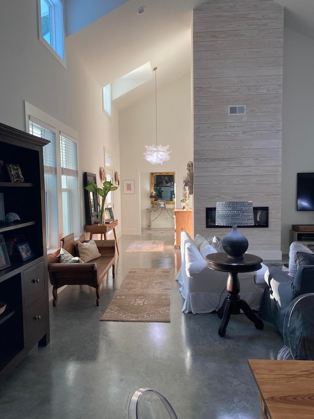
[[[259,330],[262,330],[264,324],[262,320],[253,313],[250,306],[246,301],[241,300],[238,294],[239,285],[238,285],[237,273],[230,272],[227,282],[227,291],[229,292],[228,297],[225,298],[223,305],[218,309],[217,314],[220,319],[222,319],[221,325],[218,330],[219,336],[226,335],[226,329],[230,320],[231,314],[238,314],[240,309],[244,312],[246,317],[250,319],[255,327]]]

